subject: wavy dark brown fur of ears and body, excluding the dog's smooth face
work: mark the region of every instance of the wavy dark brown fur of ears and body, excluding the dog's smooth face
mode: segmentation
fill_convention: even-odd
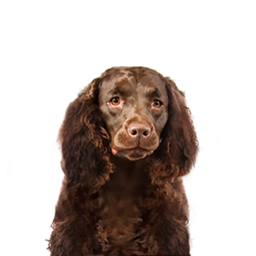
[[[142,73],[158,76],[169,105],[159,148],[122,166],[113,159],[98,96],[102,81],[127,73],[134,81]],[[49,239],[52,256],[189,255],[189,207],[180,177],[195,164],[198,142],[184,94],[171,79],[144,67],[108,69],[70,103],[59,141],[65,177]],[[124,180],[130,190],[120,187]]]

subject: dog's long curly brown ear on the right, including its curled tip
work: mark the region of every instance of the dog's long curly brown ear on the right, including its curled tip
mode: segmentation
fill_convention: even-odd
[[[195,164],[198,141],[184,93],[169,78],[164,78],[169,98],[169,117],[162,132],[162,143],[149,159],[152,183],[164,183],[189,172]]]

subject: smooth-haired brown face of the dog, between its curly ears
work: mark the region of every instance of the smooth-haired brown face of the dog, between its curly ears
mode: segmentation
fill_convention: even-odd
[[[99,107],[111,136],[112,153],[140,160],[159,147],[168,119],[166,84],[158,73],[124,70],[103,79]]]

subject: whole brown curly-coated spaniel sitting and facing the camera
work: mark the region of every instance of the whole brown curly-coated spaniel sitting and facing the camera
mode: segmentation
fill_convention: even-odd
[[[113,67],[67,108],[52,256],[189,254],[182,176],[198,141],[184,94],[146,67]]]

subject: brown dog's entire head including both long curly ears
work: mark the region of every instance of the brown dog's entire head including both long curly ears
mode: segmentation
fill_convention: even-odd
[[[97,184],[112,172],[111,155],[144,159],[162,180],[189,172],[198,150],[183,92],[146,67],[113,67],[94,79],[67,108],[60,141],[67,177]]]

